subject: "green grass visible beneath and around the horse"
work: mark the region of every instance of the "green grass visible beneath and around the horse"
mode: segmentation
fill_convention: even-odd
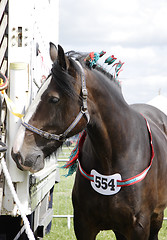
[[[71,149],[65,149],[59,158],[67,158]],[[61,162],[60,167],[63,165]],[[72,215],[71,192],[75,174],[71,177],[64,177],[66,171],[60,168],[60,183],[55,185],[53,209],[54,215]],[[165,213],[167,217],[167,210]],[[53,218],[51,232],[44,237],[44,240],[73,240],[76,239],[73,229],[73,219],[70,219],[70,229],[68,229],[67,218]],[[97,240],[115,240],[112,231],[102,231],[96,237]],[[159,232],[159,240],[167,240],[167,220],[163,221],[163,227]]]

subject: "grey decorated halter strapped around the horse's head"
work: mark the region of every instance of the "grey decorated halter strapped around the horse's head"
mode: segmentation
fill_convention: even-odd
[[[80,68],[81,71],[81,90],[82,90],[82,106],[81,106],[81,110],[78,113],[78,115],[76,116],[76,118],[74,119],[74,121],[70,124],[70,126],[64,131],[64,133],[61,134],[52,134],[46,131],[43,131],[39,128],[36,128],[34,126],[32,126],[29,123],[26,123],[25,121],[22,121],[22,125],[30,130],[31,132],[34,132],[38,135],[40,135],[41,137],[44,137],[48,140],[56,140],[56,141],[65,141],[67,138],[67,135],[69,132],[71,132],[75,126],[79,123],[79,121],[81,120],[81,118],[83,116],[86,117],[87,119],[87,123],[89,123],[90,120],[90,115],[88,112],[88,105],[87,105],[87,96],[88,96],[88,92],[86,89],[86,79],[85,79],[85,73],[83,70],[83,67],[81,66],[79,61],[75,61],[75,63],[78,65],[78,67]]]

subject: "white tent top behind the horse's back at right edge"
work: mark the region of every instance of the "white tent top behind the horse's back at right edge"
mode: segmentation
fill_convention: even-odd
[[[158,95],[151,101],[149,101],[147,104],[159,108],[162,112],[164,112],[167,115],[167,97]]]

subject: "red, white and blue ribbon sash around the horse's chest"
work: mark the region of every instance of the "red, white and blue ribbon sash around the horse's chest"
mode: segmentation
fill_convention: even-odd
[[[145,119],[145,118],[144,118],[144,119]],[[146,177],[149,169],[151,168],[151,165],[152,165],[152,162],[153,162],[153,158],[154,158],[154,147],[153,147],[153,143],[152,143],[152,134],[151,134],[150,125],[149,125],[149,123],[148,123],[148,121],[147,121],[146,119],[145,119],[145,121],[146,121],[147,129],[148,129],[148,132],[149,132],[149,135],[150,135],[150,145],[151,145],[151,161],[150,161],[150,164],[149,164],[149,166],[148,166],[144,171],[142,171],[141,173],[139,173],[138,175],[136,175],[136,176],[134,176],[134,177],[131,177],[131,178],[128,178],[128,179],[125,179],[125,180],[117,180],[117,187],[130,186],[130,185],[133,185],[133,184],[136,184],[136,183],[142,181],[142,180]],[[82,133],[82,135],[81,135],[81,137],[80,137],[81,144],[78,143],[78,146],[80,146],[80,145],[82,146],[82,145],[83,145],[83,138],[85,139],[85,131]],[[79,141],[80,141],[80,140],[79,140]],[[76,150],[75,150],[75,151],[76,151]],[[72,153],[73,153],[73,152],[72,152]],[[77,152],[77,157],[79,157],[79,152]],[[76,161],[76,158],[77,158],[77,157],[75,157],[75,161]],[[91,174],[86,173],[86,172],[83,170],[83,168],[82,168],[79,160],[78,160],[78,163],[79,163],[79,165],[78,165],[79,171],[80,171],[80,173],[83,175],[83,177],[85,177],[85,178],[88,179],[89,181],[92,181],[92,182],[93,182],[93,181],[94,181],[94,175],[91,175]],[[72,164],[74,164],[74,161],[71,159],[70,161],[68,161],[68,162],[66,163],[66,165],[64,166],[64,168],[68,168],[68,167],[70,167]],[[71,174],[69,174],[69,175],[71,175]],[[67,176],[68,176],[68,175],[67,175]]]

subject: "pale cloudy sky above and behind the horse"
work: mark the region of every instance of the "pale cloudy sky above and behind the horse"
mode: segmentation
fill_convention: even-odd
[[[60,0],[59,44],[65,51],[106,51],[125,62],[125,100],[167,97],[166,0]]]

